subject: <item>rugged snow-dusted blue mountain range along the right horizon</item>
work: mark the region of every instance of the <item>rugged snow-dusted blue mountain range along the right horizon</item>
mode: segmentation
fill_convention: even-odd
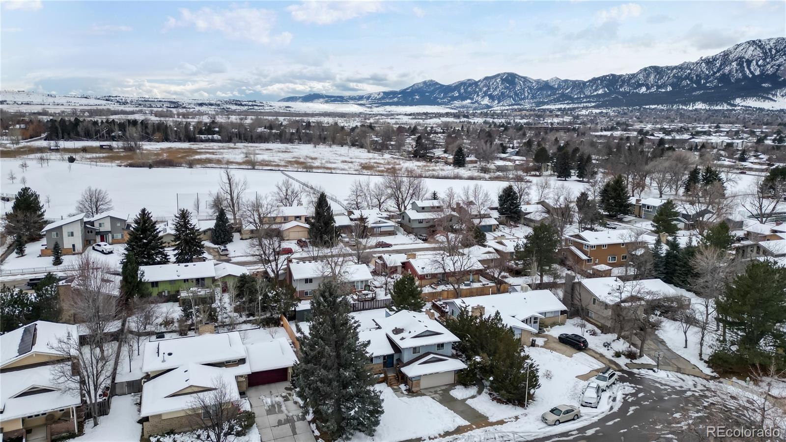
[[[308,94],[286,102],[365,105],[498,106],[755,105],[782,109],[786,90],[786,38],[742,42],[711,57],[676,66],[648,66],[631,74],[588,80],[531,79],[503,72],[452,84],[434,80],[402,90],[364,95]]]

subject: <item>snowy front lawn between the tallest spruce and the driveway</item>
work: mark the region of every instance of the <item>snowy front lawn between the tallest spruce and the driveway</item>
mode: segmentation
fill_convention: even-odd
[[[382,392],[384,414],[374,436],[355,434],[351,440],[398,442],[419,437],[438,436],[468,422],[428,396],[399,397],[384,384],[374,388]]]

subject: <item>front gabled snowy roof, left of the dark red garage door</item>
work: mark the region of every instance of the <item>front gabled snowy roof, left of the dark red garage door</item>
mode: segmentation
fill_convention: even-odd
[[[139,415],[142,418],[170,411],[187,410],[195,407],[196,395],[209,394],[192,392],[178,395],[183,389],[203,388],[215,389],[216,379],[226,385],[230,400],[240,400],[235,375],[230,370],[216,366],[190,363],[178,367],[158,378],[153,378],[142,385],[142,401]]]

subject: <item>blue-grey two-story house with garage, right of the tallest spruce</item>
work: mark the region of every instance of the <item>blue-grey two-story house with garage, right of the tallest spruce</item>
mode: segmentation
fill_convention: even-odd
[[[384,331],[393,352],[381,355],[388,385],[404,383],[412,392],[450,385],[456,382],[458,371],[467,367],[453,355],[458,337],[425,313],[405,310],[373,321]]]

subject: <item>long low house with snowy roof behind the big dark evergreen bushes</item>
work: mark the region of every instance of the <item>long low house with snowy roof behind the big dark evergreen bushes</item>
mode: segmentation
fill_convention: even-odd
[[[522,344],[528,344],[540,326],[564,324],[567,307],[549,290],[498,293],[439,301],[448,315],[457,316],[461,309],[472,315],[494,316],[497,312]]]

